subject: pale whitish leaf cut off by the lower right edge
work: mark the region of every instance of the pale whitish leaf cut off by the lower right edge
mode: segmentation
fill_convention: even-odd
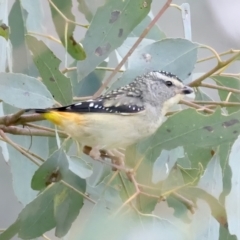
[[[240,238],[239,220],[240,220],[240,168],[239,168],[239,156],[240,156],[240,137],[232,145],[232,149],[229,155],[229,165],[232,170],[231,179],[231,191],[226,197],[226,210],[228,216],[228,228],[231,234],[235,234],[237,238]]]

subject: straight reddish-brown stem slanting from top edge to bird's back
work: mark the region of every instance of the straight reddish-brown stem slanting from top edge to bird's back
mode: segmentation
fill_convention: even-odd
[[[98,89],[98,91],[93,95],[93,98],[98,97],[101,95],[102,91],[108,86],[108,84],[111,82],[112,78],[119,72],[121,67],[124,65],[124,63],[127,61],[128,57],[131,56],[131,54],[134,52],[134,50],[137,48],[137,46],[141,43],[141,41],[144,39],[144,37],[148,34],[150,29],[156,24],[158,19],[163,15],[163,13],[168,9],[170,6],[170,3],[172,0],[167,0],[167,2],[164,4],[162,9],[158,12],[158,14],[154,17],[154,19],[149,23],[149,25],[144,29],[142,34],[139,36],[138,40],[133,44],[131,49],[128,51],[128,53],[124,56],[122,61],[117,65],[115,70],[110,74],[110,76],[106,79],[106,81],[102,84],[102,86]]]

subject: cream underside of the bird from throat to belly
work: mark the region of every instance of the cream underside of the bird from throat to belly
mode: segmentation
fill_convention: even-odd
[[[169,99],[157,111],[147,106],[142,112],[121,115],[75,113],[75,121],[62,117],[61,128],[82,146],[112,150],[126,148],[152,135],[161,125],[169,107],[179,102],[182,95]]]

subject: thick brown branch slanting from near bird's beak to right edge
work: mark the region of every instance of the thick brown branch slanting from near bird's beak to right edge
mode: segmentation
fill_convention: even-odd
[[[229,58],[226,61],[222,61],[219,62],[217,64],[217,66],[215,66],[213,69],[211,69],[210,71],[206,72],[205,74],[203,74],[201,77],[197,78],[196,80],[194,80],[193,82],[191,82],[189,84],[190,87],[199,87],[201,82],[210,77],[212,74],[214,74],[215,72],[217,72],[219,69],[226,67],[228,64],[230,64],[231,62],[233,62],[234,60],[236,60],[238,57],[240,56],[240,52],[238,52],[237,54],[235,54],[234,56],[232,56],[231,58]]]

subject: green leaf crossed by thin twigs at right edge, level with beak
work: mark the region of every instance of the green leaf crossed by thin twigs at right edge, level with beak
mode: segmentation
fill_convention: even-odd
[[[239,89],[240,81],[238,78],[234,77],[226,77],[226,76],[214,76],[211,77],[218,86]],[[219,97],[222,101],[226,101],[229,91],[218,90]],[[229,97],[229,102],[240,102],[240,94],[239,93],[231,93]],[[227,107],[228,113],[231,114],[240,109],[240,107]]]

